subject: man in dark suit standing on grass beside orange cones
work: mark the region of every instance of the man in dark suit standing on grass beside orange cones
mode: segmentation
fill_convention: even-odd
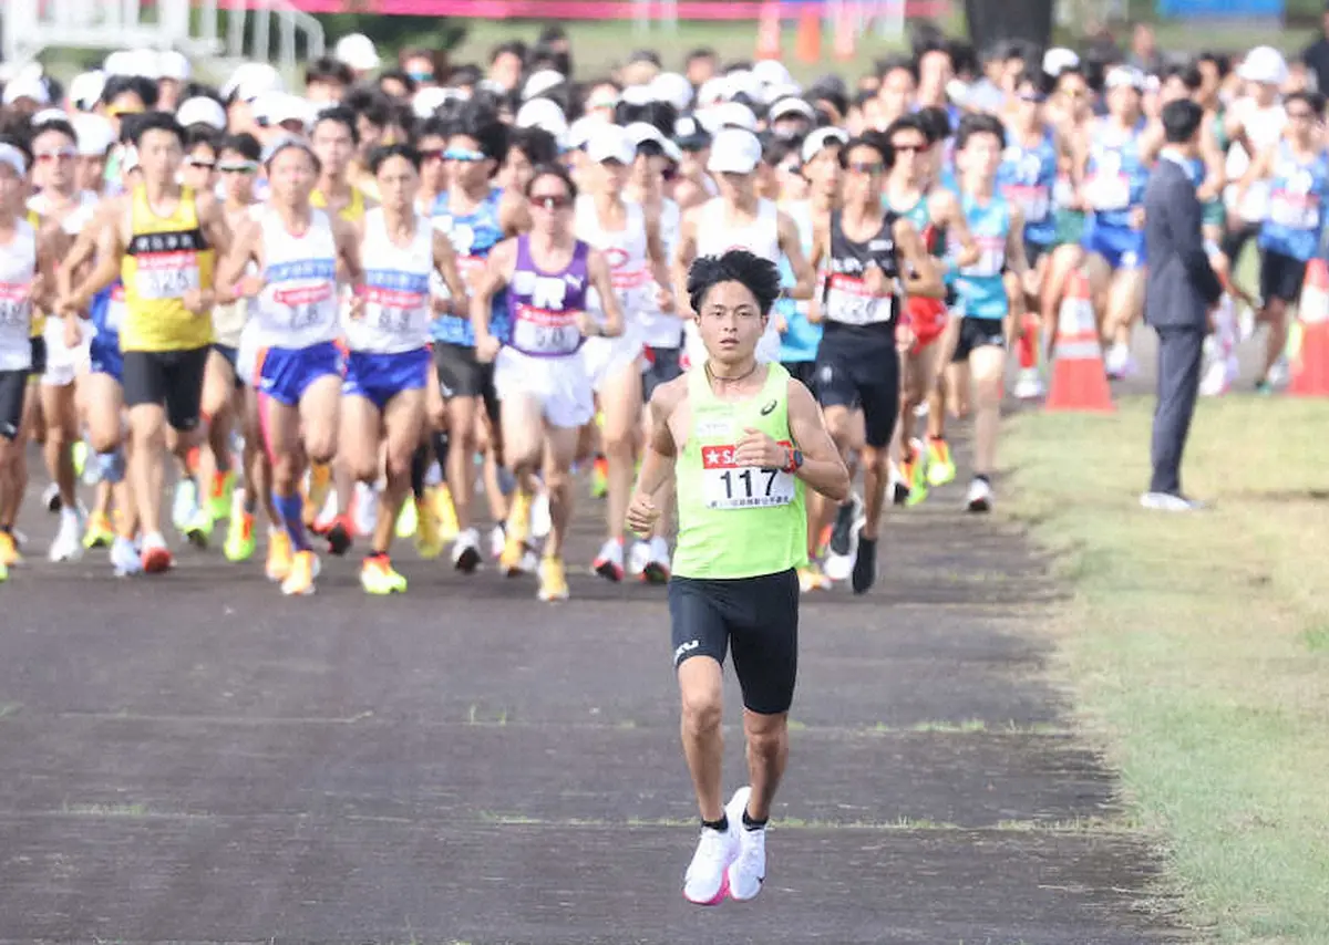
[[[1189,100],[1163,108],[1167,145],[1144,191],[1144,321],[1159,336],[1159,378],[1154,476],[1140,504],[1163,511],[1199,507],[1181,494],[1181,451],[1200,393],[1209,309],[1223,295],[1200,235],[1200,202],[1195,196],[1199,181],[1192,177],[1203,119],[1203,110]]]

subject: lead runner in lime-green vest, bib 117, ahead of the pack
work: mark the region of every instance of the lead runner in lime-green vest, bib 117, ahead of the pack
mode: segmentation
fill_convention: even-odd
[[[702,839],[683,896],[744,901],[766,877],[766,822],[788,755],[797,666],[799,579],[807,564],[804,487],[843,502],[849,472],[812,394],[756,345],[780,293],[775,264],[746,250],[692,263],[687,293],[706,361],[655,390],[651,438],[627,523],[650,534],[655,495],[678,479],[668,585],[683,754]],[[720,666],[734,650],[743,689],[750,786],[722,806]]]

